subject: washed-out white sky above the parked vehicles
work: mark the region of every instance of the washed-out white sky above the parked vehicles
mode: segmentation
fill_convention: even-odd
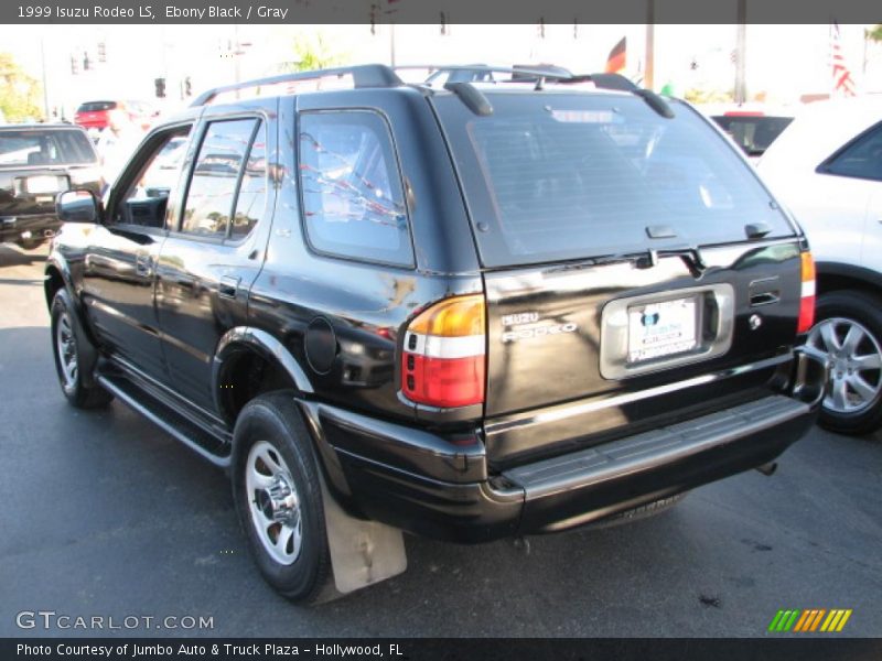
[[[863,41],[863,25],[842,25],[842,48],[862,91],[882,93],[882,45]],[[656,25],[655,87],[732,89],[735,25]],[[185,105],[181,86],[201,89],[277,73],[297,59],[297,40],[321,36],[330,52],[349,63],[497,65],[553,63],[580,73],[602,71],[610,50],[627,39],[627,71],[645,67],[644,25],[6,25],[0,51],[40,79],[45,62],[49,106],[67,117],[82,101],[101,97],[146,99],[165,109]],[[97,44],[106,63],[97,63]],[[229,55],[240,44],[239,55]],[[747,25],[746,80],[751,97],[777,104],[803,94],[829,91],[827,25]],[[235,48],[234,48],[235,50]],[[71,57],[88,53],[94,71],[71,73]],[[695,63],[695,67],[692,64]],[[417,75],[416,73],[413,75]],[[168,98],[157,100],[154,79],[166,79]]]

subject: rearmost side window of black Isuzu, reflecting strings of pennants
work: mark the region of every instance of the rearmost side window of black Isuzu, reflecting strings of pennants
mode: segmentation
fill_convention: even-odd
[[[299,173],[313,248],[369,261],[413,263],[401,175],[379,115],[303,113]]]

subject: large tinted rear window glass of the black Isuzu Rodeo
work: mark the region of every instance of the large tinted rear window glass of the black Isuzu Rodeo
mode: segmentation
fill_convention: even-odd
[[[685,105],[666,119],[636,96],[490,99],[485,117],[435,99],[485,266],[724,243],[751,223],[793,235],[750,166]],[[649,239],[653,226],[674,236]]]

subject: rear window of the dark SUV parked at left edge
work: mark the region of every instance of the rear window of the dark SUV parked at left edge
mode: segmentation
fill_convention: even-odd
[[[98,159],[82,131],[0,131],[0,167],[94,163]]]

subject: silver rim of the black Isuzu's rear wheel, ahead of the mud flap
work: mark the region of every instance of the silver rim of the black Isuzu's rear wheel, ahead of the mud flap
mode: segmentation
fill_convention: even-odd
[[[258,441],[251,446],[245,488],[251,524],[263,549],[279,564],[293,564],[303,542],[300,497],[281,453],[271,443]]]

